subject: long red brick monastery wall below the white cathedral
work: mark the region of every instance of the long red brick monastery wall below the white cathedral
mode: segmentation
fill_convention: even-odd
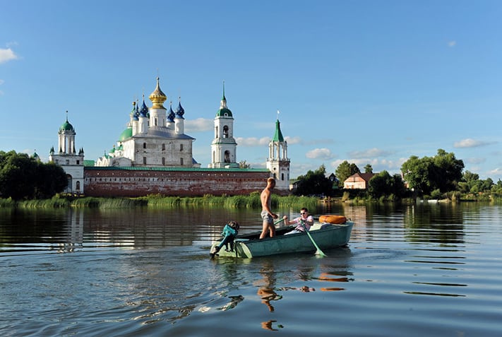
[[[213,196],[250,194],[261,191],[268,170],[121,170],[84,168],[86,196]],[[288,191],[275,191],[287,194]]]

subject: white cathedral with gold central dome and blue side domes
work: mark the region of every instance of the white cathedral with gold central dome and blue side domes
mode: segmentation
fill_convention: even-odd
[[[153,106],[141,108],[133,103],[127,128],[117,145],[99,158],[96,166],[138,167],[200,167],[193,160],[192,143],[195,138],[184,134],[184,109],[179,102],[176,113],[163,106],[167,96],[157,87],[149,96]]]

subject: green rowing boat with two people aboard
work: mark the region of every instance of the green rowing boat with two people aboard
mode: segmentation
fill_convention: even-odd
[[[328,215],[321,215],[320,220],[323,216]],[[329,216],[340,218],[342,215]],[[337,222],[340,222],[339,219]],[[314,223],[309,233],[320,249],[344,247],[350,240],[353,225],[354,223],[347,219],[344,223]],[[316,247],[305,232],[285,235],[295,226],[280,227],[275,231],[275,237],[266,237],[263,240],[259,239],[261,232],[237,235],[233,242],[227,242],[219,251],[216,250],[216,247],[222,241],[213,242],[210,255],[251,258],[275,254],[316,252]]]

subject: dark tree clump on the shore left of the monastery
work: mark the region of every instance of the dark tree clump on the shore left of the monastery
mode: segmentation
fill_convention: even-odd
[[[0,151],[0,198],[47,199],[64,191],[66,173],[52,162],[44,164],[26,153]]]

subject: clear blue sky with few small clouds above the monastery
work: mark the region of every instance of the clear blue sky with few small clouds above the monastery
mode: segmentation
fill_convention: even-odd
[[[66,118],[96,160],[155,89],[181,97],[207,167],[225,81],[237,161],[265,167],[277,116],[291,177],[398,173],[455,153],[502,178],[502,1],[0,0],[0,150],[47,160]],[[277,110],[280,114],[277,115]]]

